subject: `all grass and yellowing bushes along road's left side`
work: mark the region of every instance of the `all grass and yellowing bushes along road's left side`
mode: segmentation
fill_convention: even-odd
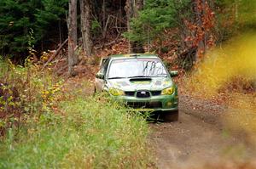
[[[4,60],[1,65],[0,168],[150,165],[142,116],[106,96],[88,97],[83,88],[64,93],[63,81],[50,70],[42,73],[35,65],[16,67]],[[19,99],[12,96],[14,90]]]

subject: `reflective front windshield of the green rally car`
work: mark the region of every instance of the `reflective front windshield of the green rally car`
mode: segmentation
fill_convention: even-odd
[[[111,62],[108,79],[167,76],[160,59],[116,59]]]

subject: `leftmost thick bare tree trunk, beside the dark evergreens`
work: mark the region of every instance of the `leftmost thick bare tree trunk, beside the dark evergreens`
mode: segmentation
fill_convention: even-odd
[[[73,66],[78,64],[78,56],[75,54],[77,47],[78,32],[77,32],[77,0],[69,0],[68,14],[68,75],[74,76]]]

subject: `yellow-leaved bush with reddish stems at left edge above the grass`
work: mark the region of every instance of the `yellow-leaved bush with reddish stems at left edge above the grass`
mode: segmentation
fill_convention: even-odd
[[[0,136],[8,128],[19,132],[26,116],[39,118],[48,112],[54,106],[61,82],[49,70],[40,71],[30,59],[24,66],[0,59]]]

